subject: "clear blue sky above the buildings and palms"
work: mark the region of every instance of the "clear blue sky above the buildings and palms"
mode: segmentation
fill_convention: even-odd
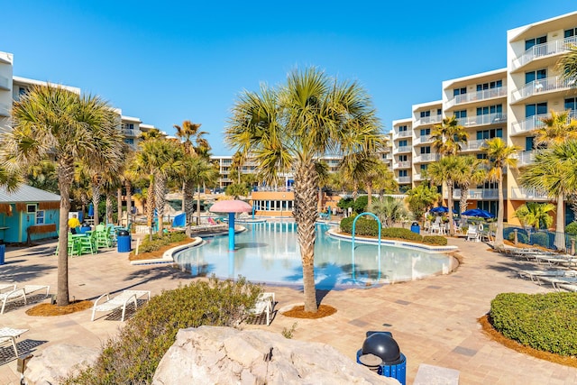
[[[14,75],[80,87],[174,133],[191,120],[213,154],[234,100],[314,65],[356,79],[389,131],[441,82],[506,67],[506,32],[577,10],[570,0],[9,1],[0,50]]]

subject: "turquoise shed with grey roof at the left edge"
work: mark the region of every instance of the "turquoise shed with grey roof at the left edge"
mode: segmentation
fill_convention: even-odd
[[[0,188],[0,240],[23,243],[58,235],[60,195],[21,185],[14,193]]]

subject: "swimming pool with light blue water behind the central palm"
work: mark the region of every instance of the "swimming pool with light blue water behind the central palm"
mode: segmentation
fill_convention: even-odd
[[[266,222],[243,225],[236,234],[235,251],[228,251],[228,237],[206,238],[206,243],[174,256],[182,269],[194,277],[246,277],[270,285],[302,286],[302,265],[294,222]],[[355,243],[334,239],[329,225],[316,225],[316,289],[347,289],[446,274],[453,268],[452,257],[398,247]]]

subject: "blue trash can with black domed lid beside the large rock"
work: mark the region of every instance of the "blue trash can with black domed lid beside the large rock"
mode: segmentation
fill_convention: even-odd
[[[407,357],[400,353],[390,332],[367,332],[362,349],[357,352],[357,362],[381,376],[407,384]]]

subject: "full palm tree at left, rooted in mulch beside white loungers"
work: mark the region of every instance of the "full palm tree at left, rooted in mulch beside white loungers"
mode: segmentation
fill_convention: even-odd
[[[58,306],[69,305],[68,216],[74,160],[95,163],[120,158],[117,115],[97,96],[79,96],[62,87],[35,86],[13,106],[13,131],[5,137],[9,156],[23,165],[45,159],[57,163],[60,189]]]

